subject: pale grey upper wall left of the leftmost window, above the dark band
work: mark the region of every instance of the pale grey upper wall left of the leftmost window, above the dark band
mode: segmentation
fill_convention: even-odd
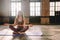
[[[1,12],[3,16],[9,16],[10,13],[10,0],[1,1]]]

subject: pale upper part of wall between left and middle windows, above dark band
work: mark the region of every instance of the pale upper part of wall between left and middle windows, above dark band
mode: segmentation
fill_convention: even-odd
[[[29,0],[22,0],[21,6],[22,6],[22,11],[24,12],[24,15],[29,16],[29,13],[30,13]]]

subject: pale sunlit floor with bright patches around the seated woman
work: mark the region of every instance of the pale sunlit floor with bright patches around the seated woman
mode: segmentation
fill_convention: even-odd
[[[60,40],[60,25],[33,25],[24,35],[12,36],[9,26],[0,26],[0,40]]]

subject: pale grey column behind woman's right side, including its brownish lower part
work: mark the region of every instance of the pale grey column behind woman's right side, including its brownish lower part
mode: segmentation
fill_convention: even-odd
[[[30,2],[29,0],[22,0],[21,2],[21,10],[26,17],[26,23],[29,23],[29,16],[30,16]]]

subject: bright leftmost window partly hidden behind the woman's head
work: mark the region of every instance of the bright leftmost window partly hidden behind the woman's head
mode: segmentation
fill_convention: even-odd
[[[21,0],[11,0],[11,16],[16,16],[21,10]]]

